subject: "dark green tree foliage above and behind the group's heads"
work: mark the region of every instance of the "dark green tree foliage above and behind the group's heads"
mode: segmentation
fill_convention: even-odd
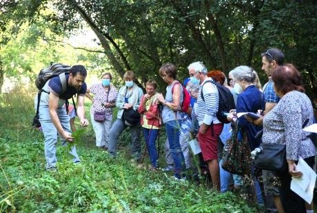
[[[19,0],[2,4],[0,19],[8,20],[5,23],[30,20],[34,25],[44,20],[44,26],[63,36],[88,25],[107,58],[103,67],[110,65],[121,77],[132,69],[142,85],[155,78],[165,62],[176,63],[182,79],[194,60],[226,73],[238,65],[251,65],[264,83],[267,77],[260,71],[260,53],[278,47],[287,62],[298,67],[307,93],[316,100],[314,0]],[[17,27],[15,31],[3,28],[17,31]]]

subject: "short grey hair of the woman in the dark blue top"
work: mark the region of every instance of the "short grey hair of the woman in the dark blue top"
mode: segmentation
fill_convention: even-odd
[[[229,71],[229,75],[231,75],[232,78],[238,82],[245,80],[246,82],[253,83],[256,79],[256,71],[247,66],[236,67],[232,69],[232,71]]]

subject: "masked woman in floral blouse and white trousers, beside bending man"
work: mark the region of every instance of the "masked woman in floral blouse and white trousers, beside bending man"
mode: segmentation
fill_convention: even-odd
[[[90,117],[92,127],[96,134],[96,146],[108,148],[109,133],[112,124],[112,108],[116,106],[118,91],[110,84],[112,76],[105,73],[101,76],[101,82],[87,89],[86,97],[92,100]],[[90,96],[90,93],[94,95]]]

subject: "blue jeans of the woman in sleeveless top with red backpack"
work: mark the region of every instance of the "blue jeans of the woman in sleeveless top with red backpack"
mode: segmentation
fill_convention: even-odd
[[[175,177],[181,178],[181,171],[185,170],[185,159],[179,144],[179,131],[181,120],[170,121],[165,123],[166,134],[170,144],[170,150],[174,159]]]

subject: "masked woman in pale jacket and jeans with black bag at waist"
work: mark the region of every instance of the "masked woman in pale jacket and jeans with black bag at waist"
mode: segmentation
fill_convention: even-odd
[[[132,135],[132,155],[136,161],[141,160],[141,123],[140,114],[137,111],[140,105],[143,91],[134,82],[134,73],[127,71],[124,76],[124,85],[119,89],[118,98],[116,99],[116,107],[119,109],[116,121],[110,130],[110,140],[108,152],[112,157],[116,157],[116,142],[125,130],[130,127]]]

